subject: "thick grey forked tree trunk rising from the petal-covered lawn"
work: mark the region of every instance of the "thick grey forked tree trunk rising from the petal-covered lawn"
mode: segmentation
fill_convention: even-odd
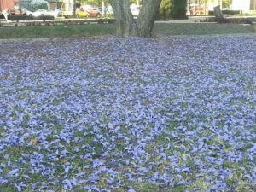
[[[150,37],[161,0],[144,0],[137,20],[131,14],[129,0],[109,0],[115,15],[117,34]]]

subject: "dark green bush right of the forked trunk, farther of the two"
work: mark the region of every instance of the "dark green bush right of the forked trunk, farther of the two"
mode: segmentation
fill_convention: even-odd
[[[187,0],[172,0],[171,16],[173,19],[187,19]]]

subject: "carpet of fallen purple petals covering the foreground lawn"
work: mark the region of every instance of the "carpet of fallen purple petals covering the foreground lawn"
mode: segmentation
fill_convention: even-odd
[[[0,188],[255,190],[255,47],[254,35],[1,42]]]

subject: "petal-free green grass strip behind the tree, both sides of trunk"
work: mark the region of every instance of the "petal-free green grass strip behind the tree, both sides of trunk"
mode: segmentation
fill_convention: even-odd
[[[154,35],[211,35],[254,33],[255,26],[216,23],[155,23]],[[0,28],[0,39],[7,38],[83,38],[114,35],[114,24],[61,26],[13,26]]]

